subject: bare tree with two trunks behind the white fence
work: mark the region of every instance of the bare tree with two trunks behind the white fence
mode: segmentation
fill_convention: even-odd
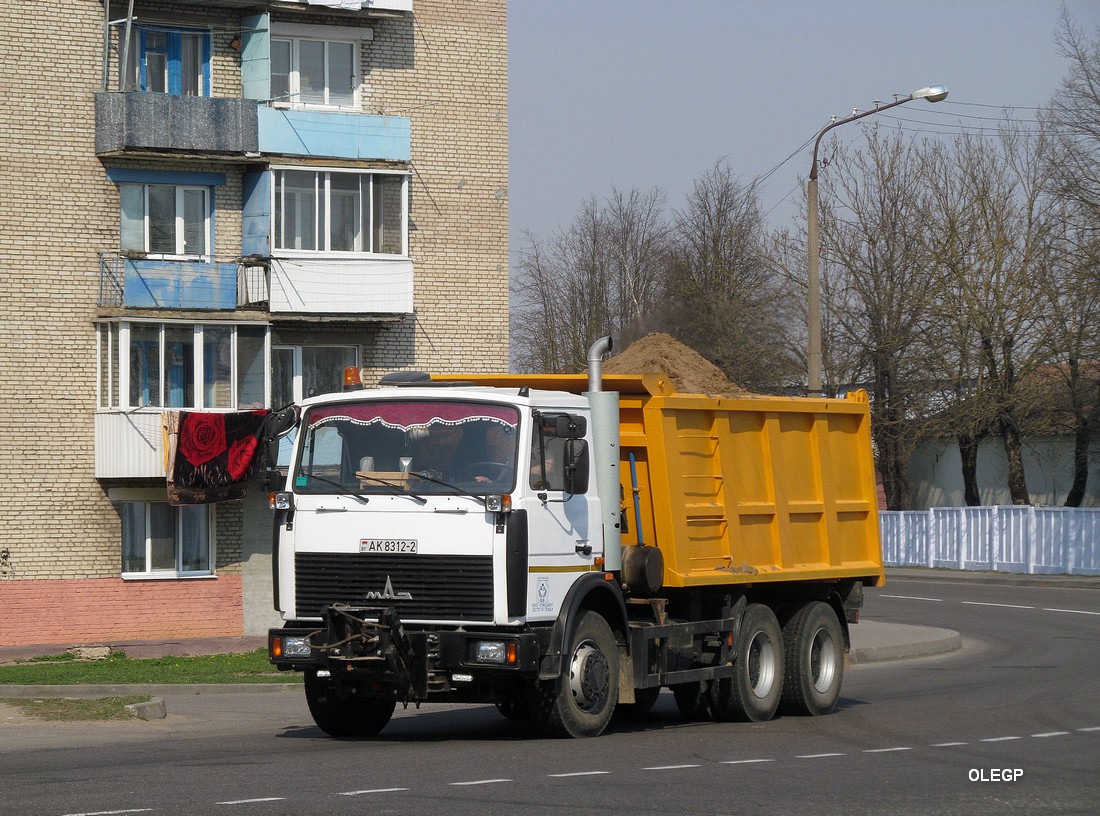
[[[964,463],[974,465],[967,453],[981,435],[1000,437],[1013,504],[1030,501],[1022,420],[1037,408],[1024,384],[1049,348],[1036,296],[1049,273],[1056,223],[1045,150],[1042,134],[967,133],[944,165],[950,169],[932,176],[937,211],[954,208],[930,224],[928,239],[939,247],[936,321],[954,343],[941,345],[942,371],[954,367]],[[971,484],[974,474],[966,476]]]

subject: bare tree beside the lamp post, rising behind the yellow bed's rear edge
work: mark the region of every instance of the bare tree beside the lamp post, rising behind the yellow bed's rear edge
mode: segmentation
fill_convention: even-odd
[[[891,509],[910,507],[909,460],[924,415],[921,348],[930,263],[921,233],[922,156],[899,133],[868,129],[866,148],[837,148],[822,201],[823,293],[829,389],[838,357],[871,392],[871,428]]]

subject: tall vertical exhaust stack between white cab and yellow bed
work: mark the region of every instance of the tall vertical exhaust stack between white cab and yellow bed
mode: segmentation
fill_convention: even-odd
[[[604,355],[612,350],[610,337],[600,338],[588,349],[588,392],[592,407],[593,462],[596,468],[596,494],[602,507],[604,569],[623,570],[623,531],[619,519],[619,426],[618,392],[605,392]]]

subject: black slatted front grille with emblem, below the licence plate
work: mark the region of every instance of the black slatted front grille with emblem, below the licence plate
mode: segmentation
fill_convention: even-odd
[[[491,555],[300,552],[295,570],[299,617],[342,603],[392,606],[402,620],[493,619]]]

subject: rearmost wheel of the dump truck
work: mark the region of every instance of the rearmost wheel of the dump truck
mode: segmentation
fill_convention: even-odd
[[[799,607],[783,625],[783,647],[780,710],[812,717],[832,712],[844,680],[844,632],[833,607],[821,600]]]

